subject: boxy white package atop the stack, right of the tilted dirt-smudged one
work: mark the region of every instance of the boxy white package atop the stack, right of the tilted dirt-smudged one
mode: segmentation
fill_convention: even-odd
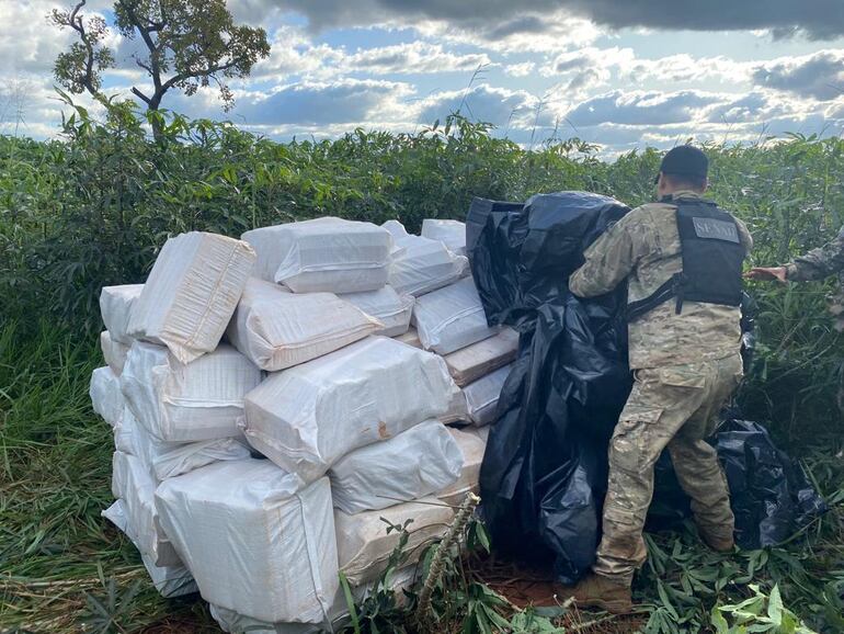
[[[247,231],[256,275],[295,293],[360,293],[387,283],[392,238],[372,223],[317,218]]]

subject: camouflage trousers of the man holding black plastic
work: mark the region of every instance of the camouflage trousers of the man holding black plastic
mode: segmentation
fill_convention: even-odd
[[[604,536],[595,573],[630,584],[647,556],[642,528],[653,496],[653,465],[668,448],[700,530],[732,536],[727,480],[715,450],[723,403],[742,377],[741,358],[636,371],[636,383],[609,443]]]

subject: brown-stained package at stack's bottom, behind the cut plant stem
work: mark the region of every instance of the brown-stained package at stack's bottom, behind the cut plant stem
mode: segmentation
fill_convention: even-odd
[[[384,571],[400,536],[399,531],[387,533],[384,520],[400,527],[412,520],[404,552],[407,564],[413,564],[432,540],[443,536],[453,518],[454,511],[433,497],[355,514],[334,510],[340,571],[352,586],[372,581]]]

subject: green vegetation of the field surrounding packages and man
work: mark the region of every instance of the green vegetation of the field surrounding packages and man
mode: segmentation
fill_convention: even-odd
[[[748,223],[754,264],[787,261],[844,224],[844,140],[707,151],[712,196]],[[659,158],[648,150],[605,162],[578,140],[524,149],[457,116],[413,135],[355,131],[288,144],[171,116],[152,143],[128,112],[100,124],[80,110],[56,140],[0,136],[0,632],[216,631],[199,601],[160,599],[132,544],[100,517],[112,500],[112,440],[88,397],[102,364],[98,297],[103,285],[142,281],[168,235],[239,236],[322,215],[399,218],[418,230],[425,217],[463,218],[472,196],[521,201],[567,189],[636,205],[652,197]],[[707,552],[691,531],[651,536],[636,586],[637,623],[648,631],[728,627],[711,609],[754,597],[751,586],[773,593],[774,608],[782,592],[817,631],[844,631],[844,426],[835,403],[844,340],[824,299],[833,283],[750,288],[760,346],[739,395],[745,417],[803,460],[831,512],[782,547],[731,556]],[[443,630],[494,630],[503,614],[514,631],[543,631],[454,579],[461,573],[435,601]],[[562,622],[625,631],[601,615]]]

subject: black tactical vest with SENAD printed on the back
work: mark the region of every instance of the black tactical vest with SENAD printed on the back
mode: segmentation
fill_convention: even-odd
[[[627,321],[635,321],[660,304],[674,299],[676,314],[683,302],[739,306],[742,263],[746,254],[735,219],[704,200],[666,200],[677,205],[683,271],[675,273],[649,297],[627,305]]]

